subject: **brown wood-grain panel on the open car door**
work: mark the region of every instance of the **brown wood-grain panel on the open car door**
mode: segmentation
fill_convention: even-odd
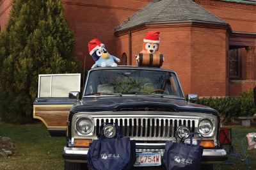
[[[34,105],[33,117],[43,121],[47,128],[66,128],[72,105]]]

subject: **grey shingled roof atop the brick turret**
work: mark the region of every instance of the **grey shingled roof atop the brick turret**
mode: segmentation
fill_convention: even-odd
[[[191,0],[154,0],[116,27],[115,32],[145,23],[179,21],[227,24]]]

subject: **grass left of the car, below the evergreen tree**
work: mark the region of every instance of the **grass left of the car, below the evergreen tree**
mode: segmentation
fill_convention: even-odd
[[[63,169],[65,137],[50,137],[43,123],[13,125],[0,122],[0,135],[12,138],[15,155],[0,157],[0,169]]]

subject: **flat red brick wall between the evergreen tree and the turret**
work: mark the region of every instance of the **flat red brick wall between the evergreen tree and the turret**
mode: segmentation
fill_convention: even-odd
[[[92,38],[99,38],[110,54],[121,58],[116,53],[115,27],[140,10],[149,0],[62,0],[65,16],[76,36],[76,56],[90,69],[94,61],[88,52],[87,43]],[[126,44],[127,45],[127,44]]]

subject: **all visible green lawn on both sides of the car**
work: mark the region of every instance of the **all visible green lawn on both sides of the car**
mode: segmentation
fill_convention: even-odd
[[[256,127],[229,126],[232,134],[235,150],[243,156],[241,139],[248,132],[256,132]],[[11,137],[15,143],[15,155],[10,158],[0,157],[0,169],[63,169],[61,152],[65,146],[65,137],[50,137],[43,123],[32,123],[28,125],[13,125],[0,122],[0,135]],[[248,146],[247,141],[245,144]],[[252,168],[256,169],[256,149],[247,151],[253,160]],[[214,169],[247,169],[244,160],[229,158],[230,164],[220,164]]]

